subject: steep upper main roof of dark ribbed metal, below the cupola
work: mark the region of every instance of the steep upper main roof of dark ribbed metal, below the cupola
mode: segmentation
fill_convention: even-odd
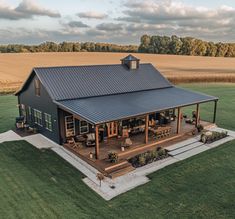
[[[35,68],[53,100],[77,99],[171,87],[151,64]]]

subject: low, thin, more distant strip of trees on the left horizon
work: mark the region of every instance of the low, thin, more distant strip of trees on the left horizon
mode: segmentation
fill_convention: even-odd
[[[45,42],[39,45],[9,44],[0,45],[0,53],[35,52],[138,52],[137,45],[117,45],[93,42]]]

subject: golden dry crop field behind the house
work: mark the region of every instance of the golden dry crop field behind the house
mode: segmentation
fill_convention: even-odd
[[[18,89],[36,66],[120,63],[124,53],[19,53],[0,54],[0,92]],[[150,62],[173,83],[235,82],[235,58],[136,54]]]

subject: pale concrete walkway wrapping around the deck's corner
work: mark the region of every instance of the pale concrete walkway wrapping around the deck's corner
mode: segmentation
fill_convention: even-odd
[[[223,129],[213,128],[211,130],[222,131]],[[187,159],[191,156],[235,139],[234,131],[228,130],[228,134],[229,137],[213,142],[212,144],[202,144],[199,142],[198,136],[178,144],[174,144],[167,148],[171,152],[172,157],[137,168],[134,171],[115,179],[105,178],[104,181],[102,181],[101,186],[100,182],[96,178],[98,171],[94,167],[41,134],[20,137],[15,132],[8,131],[0,134],[0,143],[4,141],[26,140],[38,149],[51,148],[51,150],[86,176],[82,179],[84,183],[86,183],[105,200],[110,200],[117,195],[149,182],[150,180],[147,175],[150,173],[156,172],[157,170],[160,170],[168,165]]]

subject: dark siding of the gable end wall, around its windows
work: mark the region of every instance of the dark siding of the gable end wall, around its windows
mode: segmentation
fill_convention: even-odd
[[[27,121],[30,126],[35,126],[39,130],[39,133],[45,135],[49,139],[60,143],[59,138],[59,121],[58,121],[58,112],[57,112],[57,105],[54,104],[48,95],[47,91],[41,85],[41,95],[40,97],[35,95],[34,90],[34,79],[37,78],[36,75],[32,77],[30,80],[29,85],[27,86],[27,89],[24,90],[22,93],[19,94],[19,103],[24,104],[26,107],[26,111],[28,114],[28,106],[30,106],[32,109],[37,109],[42,112],[42,124],[43,127],[34,124],[33,119],[33,112],[32,112],[32,119],[31,121]],[[44,113],[48,113],[52,117],[52,131],[49,131],[45,128],[45,117]]]

